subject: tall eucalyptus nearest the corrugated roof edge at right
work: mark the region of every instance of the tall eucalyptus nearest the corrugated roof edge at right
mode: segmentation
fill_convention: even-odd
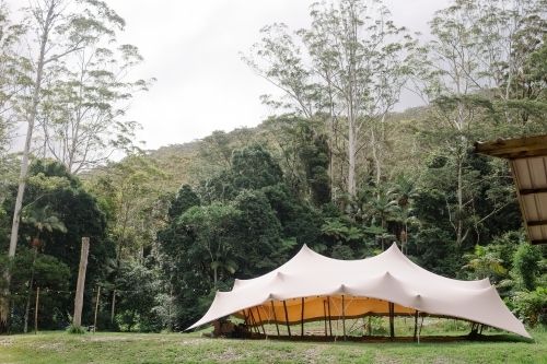
[[[474,211],[484,181],[469,175],[472,143],[524,131],[517,119],[529,103],[515,91],[525,87],[526,59],[540,44],[546,14],[544,0],[455,0],[434,13],[432,39],[415,54],[414,81],[430,106],[426,145],[457,181],[455,206],[450,196],[446,204],[458,245],[491,215]]]

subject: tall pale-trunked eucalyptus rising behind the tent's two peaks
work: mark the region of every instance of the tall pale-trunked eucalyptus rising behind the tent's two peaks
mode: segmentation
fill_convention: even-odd
[[[356,193],[358,155],[373,155],[382,174],[383,122],[398,101],[409,71],[408,32],[394,25],[380,0],[322,1],[311,8],[312,24],[290,34],[284,24],[261,30],[246,63],[284,93],[284,101],[263,98],[306,118],[327,115],[347,140],[347,190]],[[302,50],[304,49],[304,50]],[[259,59],[259,60],[258,60]],[[260,64],[260,61],[263,64]]]

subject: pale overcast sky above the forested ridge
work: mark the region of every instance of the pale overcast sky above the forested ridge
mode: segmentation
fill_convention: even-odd
[[[241,60],[259,42],[259,30],[286,23],[310,24],[316,0],[105,0],[127,22],[120,44],[139,47],[146,59],[133,75],[156,78],[132,102],[129,120],[144,130],[147,149],[201,139],[213,130],[255,127],[268,109],[259,95],[279,94]],[[432,13],[449,0],[387,0],[396,25],[426,32]],[[11,0],[12,4],[22,3]],[[403,95],[403,106],[414,106]]]

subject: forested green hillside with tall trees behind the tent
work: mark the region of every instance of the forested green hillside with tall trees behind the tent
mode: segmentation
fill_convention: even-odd
[[[304,244],[336,259],[397,244],[438,274],[489,278],[519,318],[547,324],[547,250],[527,244],[507,163],[473,148],[547,132],[544,0],[455,0],[435,12],[428,38],[394,24],[381,1],[316,3],[309,28],[265,24],[242,54],[283,92],[261,97],[269,118],[155,151],[135,142],[136,124],[118,122],[152,80],[121,82],[103,67],[116,52],[96,42],[120,21],[106,9],[95,9],[103,23],[92,13],[63,23],[67,37],[50,44],[71,39],[65,56],[81,45],[98,57],[78,73],[60,50],[20,57],[28,30],[0,8],[0,35],[10,34],[0,145],[14,120],[27,120],[32,137],[22,155],[1,151],[0,331],[26,331],[37,287],[39,327],[70,321],[84,236],[84,322],[101,286],[103,329],[184,329],[217,291]],[[123,72],[142,61],[136,47],[118,50]],[[395,113],[404,89],[423,106]]]

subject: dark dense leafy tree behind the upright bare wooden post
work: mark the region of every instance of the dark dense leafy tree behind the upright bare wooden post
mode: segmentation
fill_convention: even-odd
[[[58,162],[35,161],[30,166],[30,176],[43,175],[43,179],[55,178],[65,179],[66,183],[53,189],[43,189],[43,185],[27,184],[23,204],[32,206],[34,211],[50,210],[55,211],[57,219],[62,221],[67,232],[59,230],[49,232],[44,228],[39,235],[40,245],[44,253],[55,257],[60,267],[68,267],[70,271],[69,285],[62,291],[75,290],[78,279],[78,267],[80,263],[80,251],[82,237],[90,237],[90,254],[88,260],[86,282],[92,284],[100,280],[104,274],[103,265],[109,258],[115,256],[114,244],[106,235],[106,219],[100,211],[96,198],[81,187],[81,183],[72,176],[68,169]],[[3,203],[5,211],[13,212],[13,200],[15,189],[12,189],[12,197]],[[48,209],[45,209],[48,207]],[[47,218],[47,216],[46,216]],[[58,221],[59,222],[59,221]],[[18,254],[31,247],[32,239],[36,236],[36,227],[32,224],[22,224],[20,227]],[[39,257],[38,257],[39,258]],[[66,266],[65,266],[66,265]],[[28,262],[25,269],[32,266]],[[27,278],[28,279],[28,278]],[[44,283],[44,289],[53,285]],[[84,312],[91,316],[91,295],[89,292],[84,295]],[[58,295],[55,302],[57,320],[67,318],[68,313],[73,308],[73,297],[68,295]],[[55,325],[51,322],[55,328]]]

